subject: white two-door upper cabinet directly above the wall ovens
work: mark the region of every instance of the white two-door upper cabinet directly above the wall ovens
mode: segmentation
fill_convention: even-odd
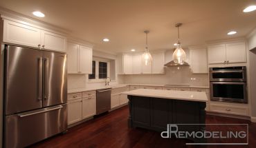
[[[244,41],[208,46],[209,64],[246,63]]]

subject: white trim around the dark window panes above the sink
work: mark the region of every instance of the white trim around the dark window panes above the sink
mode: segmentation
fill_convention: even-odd
[[[106,78],[99,78],[99,62],[107,63],[107,77],[110,76],[110,62],[104,60],[93,60],[95,61],[95,79],[89,79],[89,75],[87,76],[88,83],[99,83],[105,82]]]

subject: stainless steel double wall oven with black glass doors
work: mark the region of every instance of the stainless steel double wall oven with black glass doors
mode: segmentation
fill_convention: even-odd
[[[246,67],[211,67],[211,101],[247,103]]]

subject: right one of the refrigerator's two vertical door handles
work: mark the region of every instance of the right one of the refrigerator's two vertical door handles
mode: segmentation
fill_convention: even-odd
[[[44,59],[44,99],[49,98],[49,59]]]

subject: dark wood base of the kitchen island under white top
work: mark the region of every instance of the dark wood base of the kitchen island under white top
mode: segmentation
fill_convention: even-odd
[[[167,125],[174,124],[178,131],[205,131],[205,102],[131,95],[128,98],[129,127],[167,131]],[[205,138],[188,139],[205,142]]]

